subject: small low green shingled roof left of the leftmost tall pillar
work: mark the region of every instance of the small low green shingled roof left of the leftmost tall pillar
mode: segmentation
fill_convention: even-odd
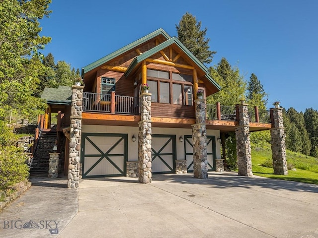
[[[49,104],[69,105],[72,102],[72,89],[66,86],[44,88],[41,99],[45,99]]]

